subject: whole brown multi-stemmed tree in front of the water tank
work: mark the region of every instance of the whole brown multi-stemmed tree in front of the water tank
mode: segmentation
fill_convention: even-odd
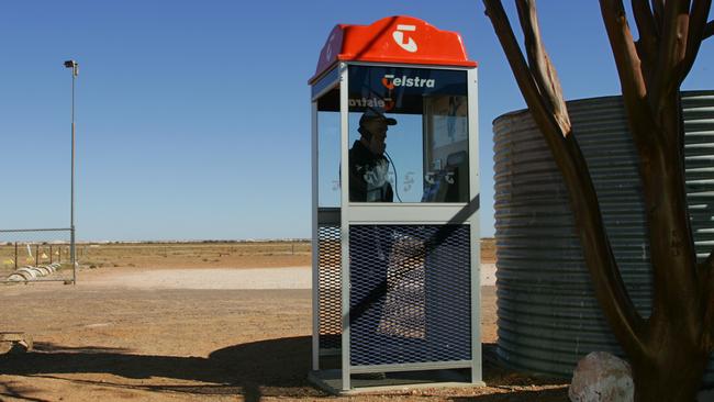
[[[679,86],[701,42],[712,0],[600,0],[639,156],[652,266],[652,311],[634,308],[612,254],[588,166],[555,68],[540,41],[535,0],[516,0],[526,64],[500,0],[483,0],[516,82],[568,189],[595,297],[633,368],[636,401],[692,401],[714,347],[714,253],[698,266],[687,208]]]

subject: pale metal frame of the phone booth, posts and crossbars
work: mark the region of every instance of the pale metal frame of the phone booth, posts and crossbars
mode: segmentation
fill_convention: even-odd
[[[468,147],[469,147],[469,202],[453,203],[364,203],[349,201],[349,66],[406,67],[426,69],[460,70],[467,72],[468,99]],[[478,127],[478,75],[476,68],[459,68],[450,66],[429,66],[411,64],[383,63],[339,63],[339,125],[341,125],[341,311],[342,311],[342,390],[352,388],[350,376],[362,372],[410,371],[445,368],[470,368],[471,382],[481,383],[481,291],[480,291],[480,228],[479,228],[479,127]],[[330,72],[327,72],[330,74]],[[324,75],[324,77],[327,76]],[[337,82],[334,81],[335,83]],[[320,300],[319,300],[319,133],[317,133],[317,99],[335,88],[332,82],[323,90],[312,96],[312,260],[313,260],[313,338],[312,368],[320,369]],[[350,327],[349,327],[349,226],[353,224],[468,224],[470,225],[471,244],[471,360],[437,361],[409,365],[352,366],[350,365]]]

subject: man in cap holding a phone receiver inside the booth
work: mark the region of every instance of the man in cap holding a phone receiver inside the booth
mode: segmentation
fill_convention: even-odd
[[[387,130],[397,120],[368,109],[359,119],[360,138],[349,149],[349,201],[392,202],[394,193],[389,182]]]

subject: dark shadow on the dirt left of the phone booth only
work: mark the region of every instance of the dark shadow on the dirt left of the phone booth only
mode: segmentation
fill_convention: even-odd
[[[324,395],[311,388],[306,381],[310,370],[310,337],[290,337],[231,346],[213,351],[208,358],[202,358],[132,355],[126,350],[93,346],[66,348],[38,343],[35,345],[37,351],[0,357],[0,373],[33,377],[109,373],[130,379],[163,377],[210,384],[153,386],[107,381],[97,384],[196,395],[243,394],[246,401],[258,401],[263,395],[293,398]],[[77,379],[69,381],[78,384],[96,382]],[[23,390],[5,390],[5,393],[20,398]]]

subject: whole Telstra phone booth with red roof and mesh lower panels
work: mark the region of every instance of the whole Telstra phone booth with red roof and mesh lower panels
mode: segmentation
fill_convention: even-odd
[[[310,379],[482,384],[477,64],[410,16],[331,32],[312,98]]]

